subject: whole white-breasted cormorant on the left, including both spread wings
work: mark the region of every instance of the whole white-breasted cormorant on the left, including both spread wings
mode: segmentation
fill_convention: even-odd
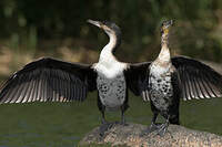
[[[104,112],[115,109],[121,109],[121,123],[124,124],[128,86],[137,95],[143,92],[142,81],[150,63],[119,62],[113,52],[121,43],[120,28],[108,21],[88,22],[102,29],[110,39],[98,63],[68,63],[51,57],[31,62],[2,85],[0,103],[84,101],[88,92],[98,91],[102,124],[107,124]]]

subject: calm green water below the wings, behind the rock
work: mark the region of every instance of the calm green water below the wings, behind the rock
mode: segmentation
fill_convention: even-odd
[[[130,95],[127,120],[150,125],[150,104]],[[182,102],[181,124],[185,127],[222,135],[221,99]],[[0,147],[73,147],[100,125],[95,94],[84,103],[30,103],[0,106]],[[120,113],[108,113],[119,120]]]

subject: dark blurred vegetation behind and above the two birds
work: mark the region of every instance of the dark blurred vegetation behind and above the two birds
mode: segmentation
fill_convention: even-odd
[[[160,24],[165,19],[176,20],[171,41],[173,54],[222,61],[221,0],[1,0],[0,48],[28,51],[31,56],[89,51],[72,61],[95,62],[98,49],[108,39],[87,19],[110,20],[121,27],[123,43],[118,56],[123,61],[157,56]],[[84,56],[91,53],[91,57]]]

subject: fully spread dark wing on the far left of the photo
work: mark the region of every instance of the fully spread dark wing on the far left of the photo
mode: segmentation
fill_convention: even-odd
[[[95,77],[91,65],[40,59],[11,75],[0,88],[0,103],[83,101],[95,90]]]

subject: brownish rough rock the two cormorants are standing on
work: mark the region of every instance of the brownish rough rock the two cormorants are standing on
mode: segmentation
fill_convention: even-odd
[[[147,128],[140,124],[122,126],[113,124],[100,133],[100,127],[87,134],[80,145],[109,144],[111,146],[130,147],[222,147],[222,136],[192,130],[179,125],[170,125],[164,136],[157,132],[141,136]]]

